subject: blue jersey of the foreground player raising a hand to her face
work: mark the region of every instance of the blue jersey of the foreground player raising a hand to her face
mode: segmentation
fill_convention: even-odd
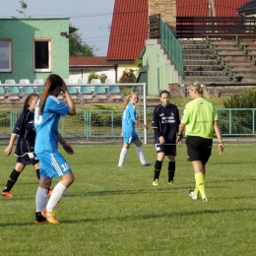
[[[38,114],[39,100],[34,111],[34,127],[36,132],[34,152],[54,152],[58,149],[58,123],[62,115],[66,115],[70,109],[56,96],[47,96],[43,112]]]

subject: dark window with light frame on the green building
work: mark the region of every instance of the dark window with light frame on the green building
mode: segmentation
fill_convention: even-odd
[[[33,41],[33,71],[52,71],[51,48],[52,46],[50,39],[35,39]]]

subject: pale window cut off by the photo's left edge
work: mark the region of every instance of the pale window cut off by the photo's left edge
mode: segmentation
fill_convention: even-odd
[[[0,38],[0,72],[12,71],[12,45],[12,39]]]

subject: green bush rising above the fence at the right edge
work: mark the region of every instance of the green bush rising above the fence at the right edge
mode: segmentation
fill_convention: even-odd
[[[233,95],[224,100],[225,108],[256,108],[256,91],[248,89],[241,95]]]

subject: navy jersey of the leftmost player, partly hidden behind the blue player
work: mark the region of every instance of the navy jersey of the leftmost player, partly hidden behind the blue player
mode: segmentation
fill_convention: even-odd
[[[27,108],[20,114],[15,124],[13,134],[19,136],[15,150],[15,155],[18,157],[34,152],[35,129],[33,116],[33,111]]]

